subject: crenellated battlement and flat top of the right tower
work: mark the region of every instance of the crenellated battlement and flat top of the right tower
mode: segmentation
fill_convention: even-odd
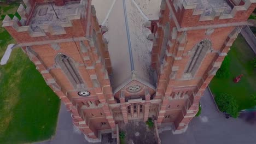
[[[200,21],[232,19],[237,11],[248,10],[256,0],[171,0],[174,9],[193,9],[193,15],[200,15]]]

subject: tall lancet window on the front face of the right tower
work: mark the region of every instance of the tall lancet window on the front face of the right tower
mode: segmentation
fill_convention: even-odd
[[[196,44],[191,53],[189,62],[184,71],[184,77],[193,77],[196,74],[197,69],[199,69],[203,58],[205,58],[206,53],[212,47],[210,40],[205,39]]]

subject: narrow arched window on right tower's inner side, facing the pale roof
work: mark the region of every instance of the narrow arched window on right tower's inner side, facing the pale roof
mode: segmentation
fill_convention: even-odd
[[[169,35],[170,35],[169,30],[170,30],[169,23],[166,23],[165,29],[164,29],[164,38],[162,39],[162,47],[161,47],[161,53],[160,53],[160,62],[161,63],[165,58],[165,51],[167,49],[168,39],[169,39]]]

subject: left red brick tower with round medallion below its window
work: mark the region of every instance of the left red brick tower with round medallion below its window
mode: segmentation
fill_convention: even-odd
[[[3,27],[72,113],[75,127],[88,141],[100,141],[115,123],[107,99],[112,69],[95,9],[91,0],[51,2],[24,1],[22,19],[7,15]]]

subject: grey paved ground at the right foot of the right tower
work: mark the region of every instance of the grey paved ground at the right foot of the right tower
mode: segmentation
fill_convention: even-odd
[[[218,112],[208,89],[201,98],[201,105],[201,116],[192,119],[185,133],[172,135],[171,131],[164,131],[159,135],[162,143],[256,143],[256,125],[250,125],[240,118],[226,119]]]

